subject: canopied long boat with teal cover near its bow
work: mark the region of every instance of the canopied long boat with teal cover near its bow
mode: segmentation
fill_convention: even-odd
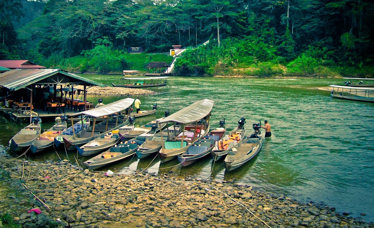
[[[162,148],[157,154],[161,163],[176,158],[209,132],[213,104],[212,100],[199,100],[159,121],[159,125],[169,122],[173,125],[180,124],[182,130],[180,134],[172,137],[168,134],[166,140],[163,139],[161,131]]]

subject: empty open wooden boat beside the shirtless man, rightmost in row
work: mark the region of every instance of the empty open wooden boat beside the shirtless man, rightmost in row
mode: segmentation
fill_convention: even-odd
[[[250,137],[246,137],[242,143],[233,148],[224,159],[227,171],[239,168],[245,162],[254,158],[260,152],[263,136],[260,131],[260,124],[253,125],[254,132]]]

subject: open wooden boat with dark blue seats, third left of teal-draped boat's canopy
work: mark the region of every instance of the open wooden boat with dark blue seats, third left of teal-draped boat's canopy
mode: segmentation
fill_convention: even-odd
[[[120,142],[119,144],[112,146],[107,151],[102,152],[101,154],[85,162],[81,160],[78,160],[78,162],[83,168],[88,168],[89,170],[101,168],[105,165],[112,164],[134,155],[138,146],[140,146],[142,143],[143,141],[137,140],[137,138],[131,139],[127,142]]]

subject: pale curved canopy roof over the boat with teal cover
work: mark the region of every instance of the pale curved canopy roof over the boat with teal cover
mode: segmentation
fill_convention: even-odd
[[[180,124],[197,122],[209,115],[209,113],[212,111],[213,104],[214,101],[208,99],[196,101],[190,106],[187,106],[184,109],[171,114],[162,121],[159,121],[159,124],[166,122],[176,122]]]

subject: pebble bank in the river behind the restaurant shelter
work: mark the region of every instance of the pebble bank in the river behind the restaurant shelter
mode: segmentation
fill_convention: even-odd
[[[82,85],[74,86],[77,89],[83,89]],[[102,95],[102,96],[140,96],[156,94],[154,91],[147,89],[134,89],[134,88],[123,88],[123,87],[111,87],[111,86],[92,86],[87,89],[89,95]]]

